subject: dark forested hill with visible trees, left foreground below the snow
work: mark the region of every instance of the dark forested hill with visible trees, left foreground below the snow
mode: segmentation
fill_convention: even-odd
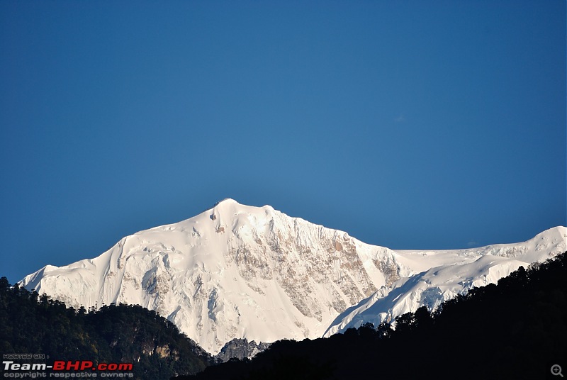
[[[165,318],[141,306],[111,305],[86,313],[0,279],[0,353],[57,360],[133,363],[137,379],[194,374],[209,354]]]

